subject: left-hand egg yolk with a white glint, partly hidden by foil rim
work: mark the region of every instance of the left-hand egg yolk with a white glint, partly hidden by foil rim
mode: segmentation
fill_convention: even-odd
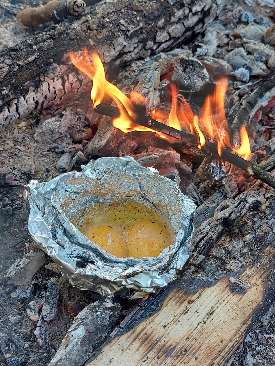
[[[113,227],[107,225],[98,225],[94,227],[83,228],[82,233],[90,240],[96,243],[101,249],[116,257],[128,257],[127,247],[119,233]]]

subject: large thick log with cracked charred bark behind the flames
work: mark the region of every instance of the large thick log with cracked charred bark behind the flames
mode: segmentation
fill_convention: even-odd
[[[0,53],[0,127],[50,105],[67,105],[91,82],[68,51],[86,46],[117,65],[172,49],[202,32],[227,0],[121,0],[96,4]],[[87,93],[88,95],[88,93]]]

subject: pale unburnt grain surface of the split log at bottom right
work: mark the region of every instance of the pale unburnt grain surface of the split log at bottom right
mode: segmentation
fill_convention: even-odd
[[[274,291],[274,249],[259,259],[262,265],[238,275],[248,289],[234,287],[229,276],[189,295],[187,288],[172,288],[157,313],[114,337],[88,365],[223,365]]]

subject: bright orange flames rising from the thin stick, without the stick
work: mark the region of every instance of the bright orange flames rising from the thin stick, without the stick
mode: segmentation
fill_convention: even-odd
[[[123,132],[131,131],[150,131],[148,127],[140,126],[134,121],[136,120],[135,105],[145,105],[145,98],[136,91],[130,93],[130,99],[125,96],[115,85],[108,82],[105,78],[105,71],[99,55],[93,52],[89,59],[88,50],[85,48],[81,57],[77,57],[73,52],[70,52],[70,59],[78,70],[85,73],[92,81],[91,99],[93,108],[99,105],[105,98],[111,98],[118,106],[120,116],[113,120],[114,127],[119,128]],[[229,138],[229,128],[226,121],[224,110],[224,98],[227,90],[227,79],[220,78],[216,83],[213,95],[205,98],[204,107],[200,116],[194,116],[193,112],[187,103],[182,98],[178,102],[178,91],[176,86],[170,82],[171,87],[171,110],[168,115],[161,111],[153,111],[152,118],[173,127],[176,130],[190,130],[193,134],[196,132],[200,144],[199,148],[205,145],[205,136],[215,138],[217,142],[218,154],[221,156],[222,149],[229,147],[235,154],[248,159],[250,156],[249,138],[244,126],[241,127],[241,146],[233,149]],[[170,138],[167,135],[156,132],[159,138]]]

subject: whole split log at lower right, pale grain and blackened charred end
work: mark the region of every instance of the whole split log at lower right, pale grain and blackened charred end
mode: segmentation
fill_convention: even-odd
[[[220,203],[194,232],[196,267],[134,309],[88,365],[224,365],[274,300],[274,224],[270,187]]]

